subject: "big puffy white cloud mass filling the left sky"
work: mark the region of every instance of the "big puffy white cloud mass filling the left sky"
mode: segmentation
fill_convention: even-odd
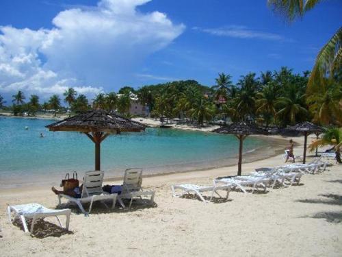
[[[70,8],[55,16],[52,29],[0,26],[0,92],[51,95],[73,86],[94,95],[127,84],[146,56],[185,29],[161,12],[136,10],[148,1],[102,0],[94,8]]]

